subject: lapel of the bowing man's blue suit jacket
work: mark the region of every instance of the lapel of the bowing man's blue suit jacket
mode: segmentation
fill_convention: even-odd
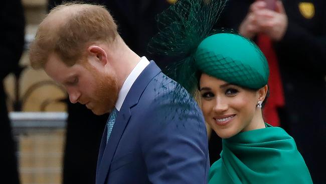
[[[137,77],[135,82],[132,84],[122,104],[122,107],[117,115],[115,124],[113,126],[107,144],[106,144],[107,128],[105,128],[102,136],[102,141],[101,141],[101,146],[100,146],[100,151],[98,156],[96,184],[103,184],[105,182],[107,173],[109,173],[109,169],[111,166],[111,162],[115,150],[119,144],[124,129],[127,126],[129,119],[131,117],[130,109],[138,103],[138,100],[143,90],[146,88],[147,84],[159,72],[160,69],[153,61],[151,61]]]

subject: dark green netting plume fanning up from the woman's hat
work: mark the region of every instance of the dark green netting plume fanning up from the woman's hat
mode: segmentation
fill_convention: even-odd
[[[164,72],[194,97],[198,83],[194,64],[196,49],[206,37],[217,33],[213,26],[226,2],[227,0],[181,0],[157,17],[159,33],[150,41],[149,51],[180,59]]]

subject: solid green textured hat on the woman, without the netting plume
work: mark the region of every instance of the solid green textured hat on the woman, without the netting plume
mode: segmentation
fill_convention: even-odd
[[[231,33],[205,38],[195,53],[196,67],[203,73],[227,82],[258,89],[267,84],[268,63],[250,40]]]

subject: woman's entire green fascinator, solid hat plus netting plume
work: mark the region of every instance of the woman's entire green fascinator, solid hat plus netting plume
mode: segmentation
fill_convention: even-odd
[[[149,50],[179,59],[165,73],[193,96],[200,73],[252,89],[267,84],[268,64],[259,48],[232,30],[212,29],[226,3],[180,0],[158,16],[159,33]]]

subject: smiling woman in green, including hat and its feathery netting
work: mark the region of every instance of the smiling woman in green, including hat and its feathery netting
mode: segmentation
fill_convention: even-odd
[[[312,183],[293,138],[263,120],[265,56],[240,35],[212,33],[224,6],[218,0],[179,1],[159,17],[165,27],[150,45],[183,57],[168,74],[194,97],[199,89],[205,120],[223,140],[209,183]]]

